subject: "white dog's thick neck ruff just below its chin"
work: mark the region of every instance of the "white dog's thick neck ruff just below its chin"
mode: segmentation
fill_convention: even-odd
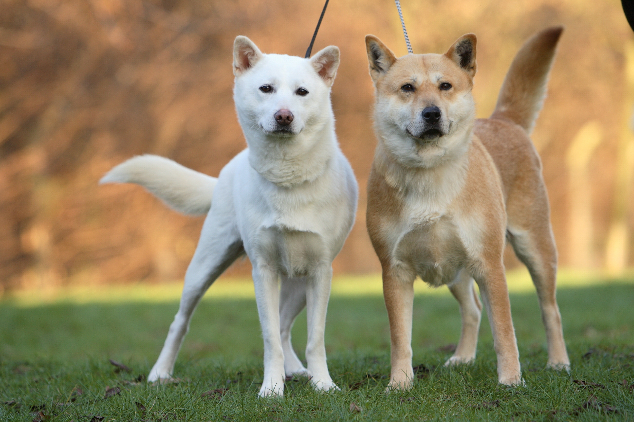
[[[289,137],[259,137],[249,143],[249,163],[260,176],[281,188],[313,182],[328,168],[337,150],[332,119],[320,130]],[[304,139],[302,139],[304,138]]]

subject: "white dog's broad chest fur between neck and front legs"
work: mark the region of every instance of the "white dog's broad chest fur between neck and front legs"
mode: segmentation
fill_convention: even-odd
[[[248,165],[246,155],[251,153],[243,152],[238,159],[242,165]],[[307,276],[330,265],[354,216],[351,199],[356,189],[346,158],[337,151],[321,176],[293,188],[276,186],[254,173],[252,168],[236,172],[235,182],[243,191],[236,212],[250,259],[288,277]]]

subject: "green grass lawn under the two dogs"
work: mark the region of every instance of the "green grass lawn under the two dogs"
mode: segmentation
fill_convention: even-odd
[[[160,351],[178,309],[173,299],[30,304],[5,299],[0,302],[0,420],[32,421],[32,408],[42,405],[44,419],[75,422],[100,420],[94,416],[103,421],[634,420],[634,284],[560,288],[571,374],[543,369],[547,352],[534,292],[512,293],[526,380],[517,388],[496,382],[486,317],[475,364],[442,366],[450,355],[442,347],[456,343],[460,333],[458,305],[444,291],[415,299],[414,364],[428,371],[418,372],[410,392],[384,393],[389,330],[382,298],[341,294],[330,300],[326,341],[330,373],[342,390],[316,393],[306,379],[294,379],[283,399],[257,398],[262,340],[250,297],[205,298],[176,363],[175,376],[183,381],[159,386],[136,385],[134,378],[148,373]],[[302,358],[304,314],[293,341]],[[116,373],[108,359],[132,372]],[[120,393],[104,399],[107,387],[119,387]],[[226,390],[201,397],[216,389]],[[2,404],[11,400],[20,406]],[[351,410],[351,403],[360,411]]]

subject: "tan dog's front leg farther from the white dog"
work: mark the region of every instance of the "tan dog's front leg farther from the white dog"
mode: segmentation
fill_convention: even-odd
[[[504,268],[500,265],[491,269],[475,281],[480,287],[491,324],[493,347],[498,356],[498,381],[500,384],[519,385],[522,383],[522,371]]]

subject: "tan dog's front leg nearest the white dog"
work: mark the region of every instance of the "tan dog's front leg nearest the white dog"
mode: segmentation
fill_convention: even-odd
[[[411,368],[411,318],[414,277],[383,274],[383,295],[390,320],[392,373],[387,390],[408,390],[414,378]]]

